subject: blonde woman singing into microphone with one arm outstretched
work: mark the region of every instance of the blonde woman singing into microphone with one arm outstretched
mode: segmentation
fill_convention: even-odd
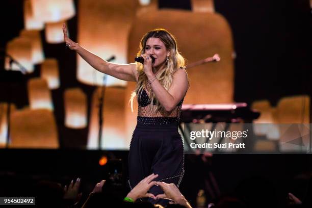
[[[66,45],[93,68],[137,83],[131,96],[132,101],[137,97],[139,109],[128,156],[130,188],[152,173],[158,174],[155,180],[178,187],[184,174],[184,148],[178,121],[188,90],[188,76],[185,59],[179,54],[174,37],[164,29],[149,31],[143,36],[138,52],[143,64],[114,64],[70,40],[65,24],[63,32]],[[163,191],[153,186],[149,193],[157,197]],[[153,201],[156,202],[159,203]]]

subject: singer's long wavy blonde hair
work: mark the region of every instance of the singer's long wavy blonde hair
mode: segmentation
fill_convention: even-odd
[[[164,45],[166,46],[167,51],[169,50],[170,52],[170,56],[168,57],[168,63],[167,65],[164,65],[165,67],[163,69],[161,69],[161,71],[159,71],[156,74],[157,79],[159,80],[159,82],[162,84],[162,86],[166,89],[169,90],[171,84],[172,84],[172,80],[173,80],[173,74],[180,68],[180,67],[184,67],[186,60],[183,58],[183,56],[180,55],[178,49],[177,49],[177,43],[176,40],[174,38],[174,36],[172,34],[170,34],[167,30],[165,29],[154,29],[151,30],[149,32],[147,32],[141,39],[140,42],[140,50],[137,54],[137,56],[141,56],[141,54],[145,53],[145,45],[146,42],[149,38],[159,38]],[[147,76],[144,73],[143,70],[143,64],[137,62],[136,63],[136,68],[139,72],[139,77],[138,77],[138,82],[137,82],[137,86],[135,91],[131,94],[131,109],[133,112],[133,100],[136,97],[136,95],[138,96],[138,99],[140,99],[141,94],[143,92],[143,89],[147,86]],[[163,112],[164,108],[160,105],[159,101],[157,100],[157,98],[155,97],[155,94],[152,92],[151,88],[148,88],[148,94],[149,94],[149,98],[151,100],[151,103],[153,103],[153,101],[155,100],[155,107],[154,108],[154,112],[160,111]],[[151,109],[153,105],[151,105]]]

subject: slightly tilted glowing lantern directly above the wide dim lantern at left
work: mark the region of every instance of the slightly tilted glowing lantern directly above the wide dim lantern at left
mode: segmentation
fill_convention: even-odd
[[[28,97],[30,108],[48,109],[53,111],[53,102],[51,92],[46,80],[41,78],[32,78],[28,81]]]

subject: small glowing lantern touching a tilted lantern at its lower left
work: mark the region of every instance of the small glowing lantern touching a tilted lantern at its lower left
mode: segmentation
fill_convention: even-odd
[[[47,58],[40,67],[40,77],[46,80],[49,89],[58,89],[60,87],[58,60],[54,58]]]

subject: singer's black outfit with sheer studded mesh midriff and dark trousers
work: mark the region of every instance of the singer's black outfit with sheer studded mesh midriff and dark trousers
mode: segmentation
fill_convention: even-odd
[[[154,180],[174,183],[178,187],[184,175],[184,146],[178,132],[183,99],[175,109],[164,114],[150,109],[151,101],[145,89],[138,97],[137,126],[128,156],[128,184],[133,189],[144,177],[154,173],[159,175]],[[156,196],[164,192],[153,186],[149,193]],[[162,200],[150,201],[163,204]]]

